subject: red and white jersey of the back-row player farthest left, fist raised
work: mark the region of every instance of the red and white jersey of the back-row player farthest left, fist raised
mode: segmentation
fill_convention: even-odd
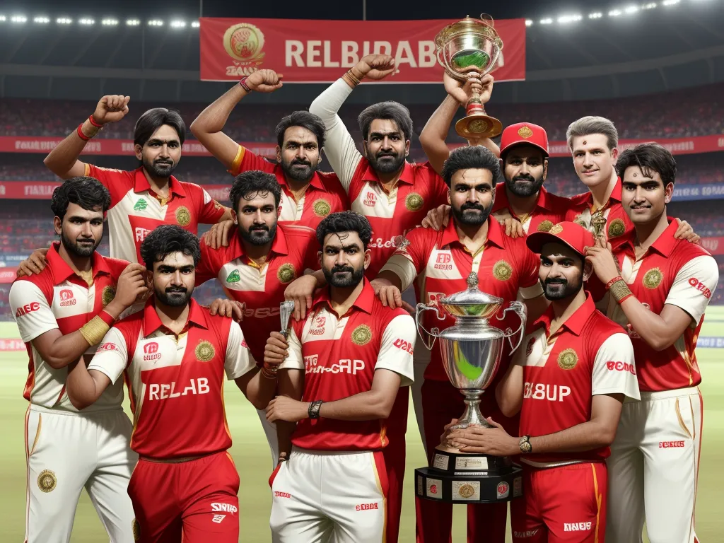
[[[196,234],[198,224],[214,224],[224,214],[224,206],[203,188],[169,177],[169,197],[160,198],[151,190],[143,168],[125,172],[85,164],[85,175],[95,177],[111,193],[108,232],[111,256],[141,262],[140,244],[161,224],[178,224]]]

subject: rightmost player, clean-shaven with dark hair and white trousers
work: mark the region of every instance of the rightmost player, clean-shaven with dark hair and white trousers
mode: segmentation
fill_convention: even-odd
[[[699,245],[678,240],[666,216],[676,178],[671,153],[644,143],[621,153],[621,203],[633,223],[613,254],[589,247],[608,291],[607,315],[628,329],[640,404],[623,406],[608,459],[608,541],[693,543],[702,442],[702,376],[696,340],[719,279]],[[605,301],[605,300],[604,300]]]

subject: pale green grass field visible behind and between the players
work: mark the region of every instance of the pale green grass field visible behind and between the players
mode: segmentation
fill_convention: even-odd
[[[724,337],[724,307],[707,312],[702,336]],[[19,337],[14,323],[0,323],[0,337]],[[696,532],[700,540],[716,541],[722,526],[720,513],[724,468],[721,458],[724,447],[724,351],[699,349],[699,364],[704,375],[704,444],[696,500]],[[25,452],[23,420],[28,403],[22,398],[27,377],[28,358],[25,353],[0,354],[0,539],[20,542],[25,534]],[[239,492],[242,541],[268,542],[271,496],[267,479],[270,473],[269,448],[258,418],[236,387],[226,388],[227,416],[234,438],[232,455],[241,476]],[[415,541],[415,504],[413,469],[424,466],[425,458],[413,413],[408,428],[408,470],[405,476],[405,498],[400,529],[400,542]],[[453,540],[465,541],[465,508],[455,506]],[[98,543],[108,537],[93,505],[83,492],[75,515],[73,543]],[[301,542],[300,542],[301,543]]]

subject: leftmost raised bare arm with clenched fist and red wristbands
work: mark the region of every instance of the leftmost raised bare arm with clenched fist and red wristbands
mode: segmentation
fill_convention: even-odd
[[[85,162],[78,160],[85,144],[95,137],[103,125],[118,122],[128,113],[130,96],[113,94],[104,96],[96,106],[96,111],[46,156],[43,163],[61,179],[85,175]],[[91,120],[92,119],[92,120]],[[81,137],[81,134],[83,137]]]

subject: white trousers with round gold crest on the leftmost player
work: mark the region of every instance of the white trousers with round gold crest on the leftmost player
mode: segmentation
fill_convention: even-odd
[[[25,413],[27,543],[68,543],[85,488],[111,543],[133,543],[128,481],[138,461],[121,408],[76,413],[30,405]]]

